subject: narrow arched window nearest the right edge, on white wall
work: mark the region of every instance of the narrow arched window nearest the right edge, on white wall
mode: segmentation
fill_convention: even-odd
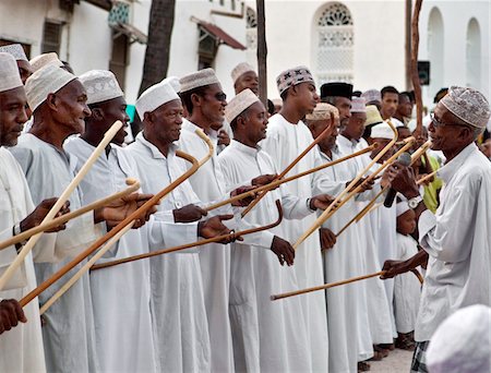
[[[467,26],[466,48],[466,81],[467,86],[481,88],[481,29],[476,19]]]

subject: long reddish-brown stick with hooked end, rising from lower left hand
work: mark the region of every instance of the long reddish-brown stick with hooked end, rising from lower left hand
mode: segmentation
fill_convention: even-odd
[[[45,291],[47,288],[49,288],[52,284],[55,284],[57,280],[59,280],[61,277],[63,277],[70,269],[72,269],[74,266],[76,266],[79,263],[81,263],[83,260],[85,260],[88,255],[94,253],[98,248],[100,248],[103,244],[105,244],[107,241],[109,241],[112,237],[118,234],[122,229],[124,229],[128,225],[132,225],[133,220],[140,218],[143,214],[146,213],[147,209],[149,209],[152,206],[154,206],[156,203],[158,203],[164,196],[166,196],[168,193],[170,193],[176,186],[178,186],[180,183],[182,183],[184,180],[187,180],[189,177],[191,177],[196,170],[200,168],[200,165],[204,164],[207,159],[209,159],[213,155],[214,148],[207,136],[203,133],[201,130],[196,130],[196,134],[202,137],[204,141],[206,141],[206,144],[209,147],[208,154],[199,163],[195,158],[192,156],[179,152],[176,153],[179,157],[184,158],[185,160],[192,163],[192,167],[185,171],[183,175],[181,175],[179,178],[177,178],[173,182],[171,182],[169,185],[167,185],[165,189],[163,189],[160,192],[155,194],[152,198],[149,198],[147,202],[145,202],[142,206],[140,206],[136,210],[134,210],[132,214],[130,214],[128,217],[124,218],[120,224],[118,224],[115,228],[112,228],[109,232],[107,232],[105,236],[99,238],[96,242],[94,242],[89,248],[85,249],[83,252],[81,252],[79,255],[76,255],[72,261],[67,263],[62,268],[60,268],[57,273],[55,273],[50,278],[46,279],[41,285],[39,285],[37,288],[32,290],[27,296],[25,296],[23,299],[21,299],[20,303],[22,306],[26,305],[28,302],[31,302],[34,298],[39,296],[43,291]]]

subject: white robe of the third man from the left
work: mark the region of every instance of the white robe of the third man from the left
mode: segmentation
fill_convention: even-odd
[[[77,169],[95,147],[72,137],[63,148],[74,155]],[[83,205],[123,190],[127,178],[137,178],[134,165],[110,145],[82,180]],[[97,263],[148,251],[147,225],[128,231]],[[121,297],[121,291],[124,297]],[[136,261],[91,273],[96,346],[103,372],[157,372],[149,306],[149,264]],[[124,325],[124,327],[122,327]]]

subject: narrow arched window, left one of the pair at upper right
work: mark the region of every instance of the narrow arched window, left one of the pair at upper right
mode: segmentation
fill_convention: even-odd
[[[444,86],[443,17],[435,7],[428,21],[428,59],[430,60],[430,96]]]

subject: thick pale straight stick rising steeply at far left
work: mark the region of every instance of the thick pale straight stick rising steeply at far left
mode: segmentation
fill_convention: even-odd
[[[51,207],[49,213],[46,215],[46,217],[43,219],[41,224],[47,224],[48,221],[52,220],[55,216],[58,214],[60,208],[64,205],[64,203],[68,201],[72,192],[75,190],[75,188],[79,185],[79,183],[82,181],[82,179],[85,177],[85,175],[89,171],[92,166],[95,164],[97,158],[103,154],[106,146],[111,142],[112,137],[116,135],[116,133],[119,131],[119,129],[122,127],[121,121],[116,121],[111,128],[106,132],[104,135],[103,141],[100,142],[99,146],[97,146],[94,151],[94,153],[91,155],[91,157],[87,159],[87,161],[82,166],[79,173],[75,176],[75,178],[70,182],[70,184],[65,188],[63,193],[58,197],[55,205]],[[0,277],[0,290],[2,290],[9,279],[13,276],[15,270],[22,265],[27,254],[33,250],[36,242],[39,240],[40,236],[43,233],[37,233],[29,238],[27,243],[22,248],[22,250],[19,252],[15,260],[12,262],[12,264],[7,268],[7,270],[3,273],[3,275]]]

